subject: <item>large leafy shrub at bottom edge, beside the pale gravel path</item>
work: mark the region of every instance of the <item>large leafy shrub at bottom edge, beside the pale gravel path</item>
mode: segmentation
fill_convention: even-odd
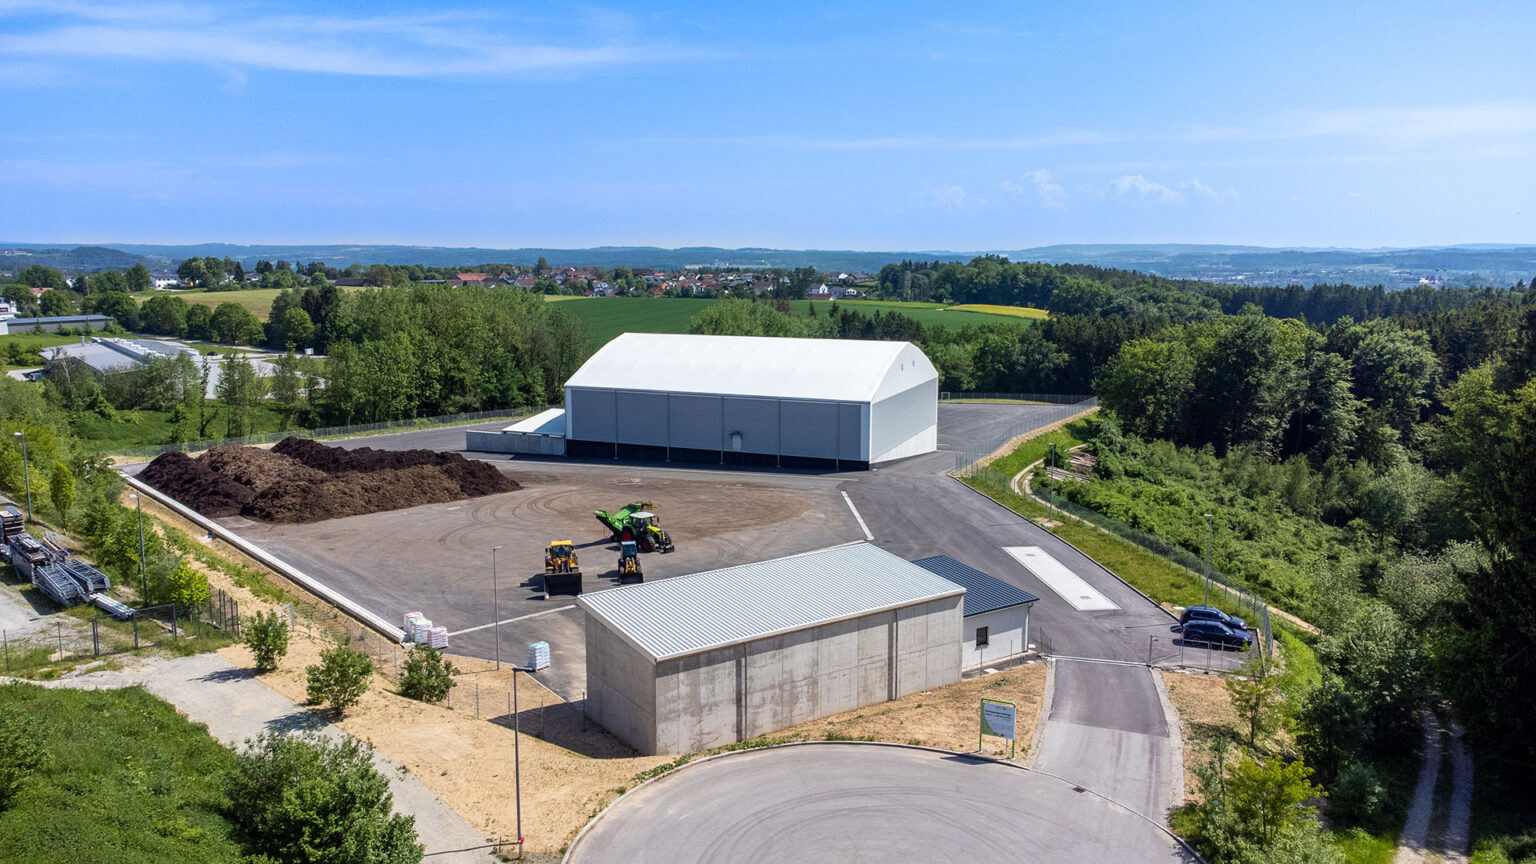
[[[255,856],[269,861],[421,861],[416,819],[393,812],[395,798],[373,769],[372,752],[356,738],[267,732],[247,741],[224,784],[233,804],[229,816],[244,829]]]

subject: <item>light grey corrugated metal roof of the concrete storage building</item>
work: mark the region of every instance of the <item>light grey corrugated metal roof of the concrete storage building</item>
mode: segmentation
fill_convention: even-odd
[[[578,603],[662,661],[962,590],[879,546],[859,543],[584,593]]]

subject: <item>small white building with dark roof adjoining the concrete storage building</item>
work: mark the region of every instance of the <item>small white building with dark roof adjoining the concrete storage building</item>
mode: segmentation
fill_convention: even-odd
[[[1038,596],[948,555],[912,563],[965,589],[960,669],[1005,663],[1029,650],[1029,609]]]

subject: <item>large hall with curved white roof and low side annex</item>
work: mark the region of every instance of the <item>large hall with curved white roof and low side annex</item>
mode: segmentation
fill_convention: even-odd
[[[624,334],[565,383],[562,417],[573,457],[859,470],[938,446],[938,374],[905,341]],[[467,447],[548,454],[530,432]]]

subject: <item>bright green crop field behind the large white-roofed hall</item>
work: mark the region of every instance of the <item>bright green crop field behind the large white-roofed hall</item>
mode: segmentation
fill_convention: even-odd
[[[674,297],[547,297],[545,300],[562,301],[559,306],[562,312],[576,315],[587,324],[588,347],[598,347],[619,334],[685,334],[694,315],[719,303],[719,300],[682,300]],[[816,306],[817,315],[826,315],[831,311],[831,304],[826,301],[790,301],[790,309],[796,315],[811,314],[811,306]],[[938,303],[840,300],[837,306],[840,309],[856,309],[863,315],[900,312],[925,327],[963,327],[966,324],[995,324],[1000,321],[1011,324],[1028,323],[1028,318],[1008,315],[957,312]]]

